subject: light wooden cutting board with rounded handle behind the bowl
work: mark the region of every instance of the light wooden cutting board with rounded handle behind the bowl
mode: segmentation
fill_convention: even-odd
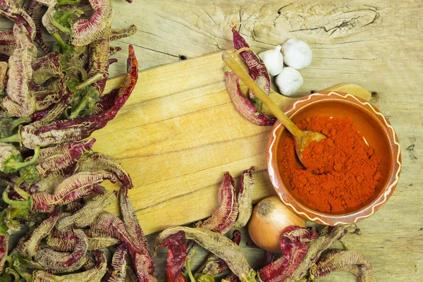
[[[238,188],[240,173],[255,166],[255,202],[275,194],[266,171],[271,126],[238,114],[222,69],[219,52],[141,71],[123,109],[92,136],[94,150],[120,161],[133,178],[129,197],[146,234],[212,214],[226,171]],[[113,79],[107,87],[121,82]],[[351,84],[330,90],[370,96]],[[118,205],[108,210],[118,214]]]

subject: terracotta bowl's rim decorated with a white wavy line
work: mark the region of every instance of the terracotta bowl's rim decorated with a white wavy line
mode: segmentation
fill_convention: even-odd
[[[392,172],[389,176],[388,183],[384,191],[381,192],[379,197],[376,197],[372,202],[367,204],[367,206],[363,207],[362,209],[352,212],[350,214],[324,214],[321,212],[314,211],[305,207],[303,204],[295,200],[295,198],[291,197],[290,193],[286,190],[283,186],[283,183],[280,179],[277,164],[276,164],[276,157],[274,157],[274,152],[276,152],[276,147],[274,144],[276,142],[276,133],[280,133],[281,130],[284,130],[283,125],[276,121],[274,127],[271,130],[271,134],[269,135],[269,140],[267,143],[267,151],[266,151],[266,163],[267,163],[267,171],[269,173],[269,178],[271,180],[278,197],[282,200],[286,206],[291,209],[295,214],[298,214],[304,219],[309,221],[313,221],[315,223],[320,223],[324,225],[343,225],[343,224],[350,224],[350,223],[357,223],[368,216],[371,216],[376,211],[378,211],[384,204],[388,201],[389,197],[391,197],[393,190],[396,188],[396,184],[398,183],[400,177],[400,171],[402,167],[402,159],[400,153],[400,143],[398,141],[398,136],[395,133],[391,123],[389,123],[388,119],[384,114],[379,111],[375,106],[370,104],[369,102],[361,99],[359,97],[355,97],[352,94],[348,94],[345,92],[317,92],[313,94],[309,94],[301,99],[298,99],[295,103],[291,106],[286,108],[285,113],[288,117],[295,114],[302,106],[309,104],[309,102],[314,102],[320,99],[337,99],[343,100],[347,102],[353,102],[360,108],[368,111],[372,116],[378,118],[385,126],[385,130],[388,134],[388,141],[391,145],[392,154],[393,154],[393,164],[392,164]],[[274,151],[275,150],[275,151]]]

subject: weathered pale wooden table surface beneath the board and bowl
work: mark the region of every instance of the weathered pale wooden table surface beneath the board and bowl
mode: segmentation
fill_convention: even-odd
[[[301,71],[302,93],[341,82],[361,85],[398,134],[403,154],[400,181],[387,204],[347,235],[350,250],[372,262],[375,281],[422,281],[423,277],[423,1],[115,1],[114,27],[135,23],[136,35],[113,42],[135,46],[140,70],[232,48],[236,26],[255,51],[290,37],[307,42],[312,65]],[[0,27],[10,27],[1,22]],[[125,71],[125,52],[111,75]],[[195,78],[193,78],[195,79]],[[312,85],[312,87],[310,87]],[[245,247],[251,264],[262,252]],[[149,235],[152,245],[155,234]],[[164,275],[166,250],[155,258]],[[321,281],[354,281],[331,274]]]

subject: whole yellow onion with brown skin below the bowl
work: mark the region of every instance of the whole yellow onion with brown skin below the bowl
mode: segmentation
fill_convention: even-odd
[[[272,196],[255,206],[248,223],[248,233],[263,250],[281,252],[281,235],[288,226],[305,227],[305,220],[291,212],[277,196]]]

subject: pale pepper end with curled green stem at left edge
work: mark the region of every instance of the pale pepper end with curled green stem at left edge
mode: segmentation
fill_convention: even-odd
[[[30,161],[23,161],[20,152],[15,146],[0,143],[0,171],[13,173],[25,168],[25,166],[31,166],[37,161],[39,152],[39,148],[35,149],[34,157]]]

